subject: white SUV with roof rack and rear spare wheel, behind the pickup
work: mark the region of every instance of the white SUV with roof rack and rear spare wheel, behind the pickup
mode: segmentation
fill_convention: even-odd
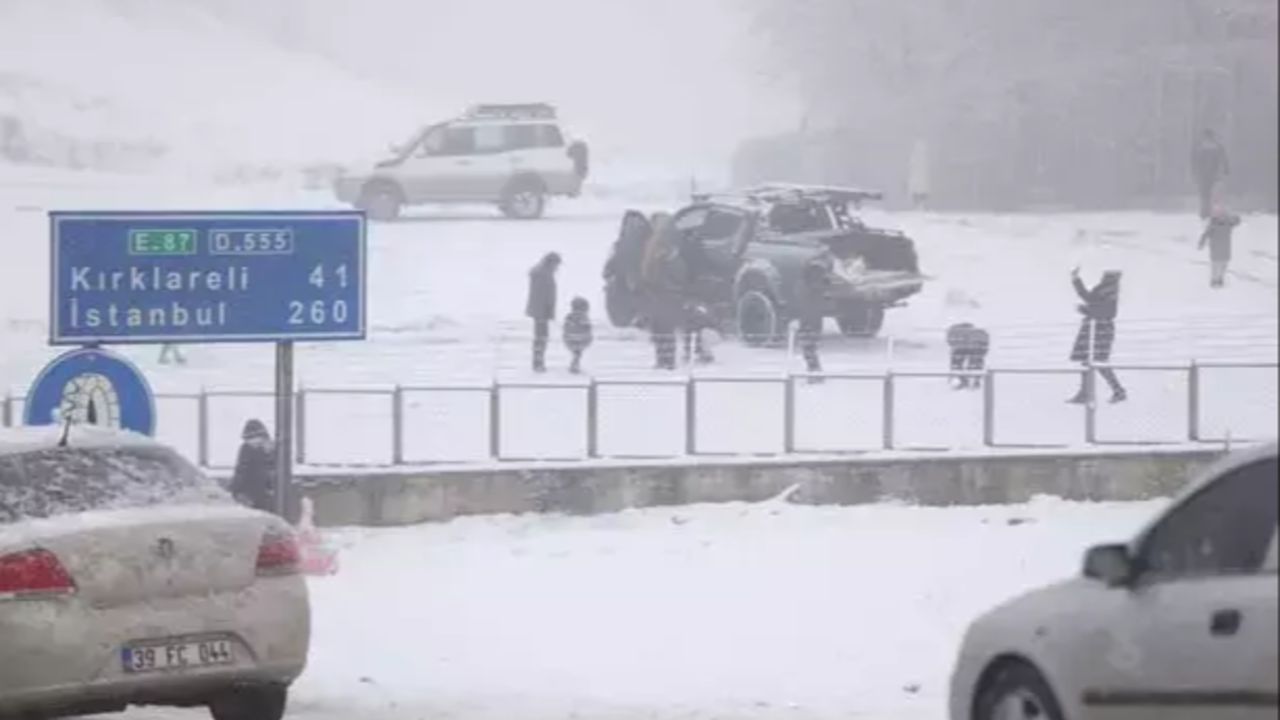
[[[338,199],[379,220],[428,202],[495,202],[507,217],[532,219],[549,196],[576,197],[588,173],[586,143],[566,138],[544,104],[477,105],[392,151],[365,172],[340,174]]]

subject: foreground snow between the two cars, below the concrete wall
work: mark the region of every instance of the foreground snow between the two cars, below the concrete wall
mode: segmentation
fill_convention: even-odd
[[[1160,502],[783,502],[346,530],[294,720],[942,720],[966,624]],[[195,720],[140,710],[122,720]]]

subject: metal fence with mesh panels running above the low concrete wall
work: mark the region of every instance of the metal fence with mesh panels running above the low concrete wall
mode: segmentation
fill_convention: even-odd
[[[782,456],[1251,441],[1276,434],[1270,363],[1111,365],[1129,400],[1064,402],[1096,373],[997,368],[955,389],[947,372],[616,377],[580,382],[302,388],[296,461],[392,466],[520,460]],[[24,400],[4,397],[0,420]],[[157,437],[206,468],[232,465],[241,425],[271,424],[273,397],[156,397]]]

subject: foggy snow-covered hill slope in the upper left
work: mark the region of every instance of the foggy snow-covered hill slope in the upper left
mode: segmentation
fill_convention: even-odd
[[[0,4],[0,164],[271,174],[367,159],[417,115],[200,4]]]

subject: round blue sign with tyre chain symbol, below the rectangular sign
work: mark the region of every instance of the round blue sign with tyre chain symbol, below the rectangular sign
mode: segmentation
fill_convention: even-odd
[[[27,396],[24,421],[54,425],[68,419],[150,436],[155,397],[133,363],[105,350],[73,350],[41,370]]]

